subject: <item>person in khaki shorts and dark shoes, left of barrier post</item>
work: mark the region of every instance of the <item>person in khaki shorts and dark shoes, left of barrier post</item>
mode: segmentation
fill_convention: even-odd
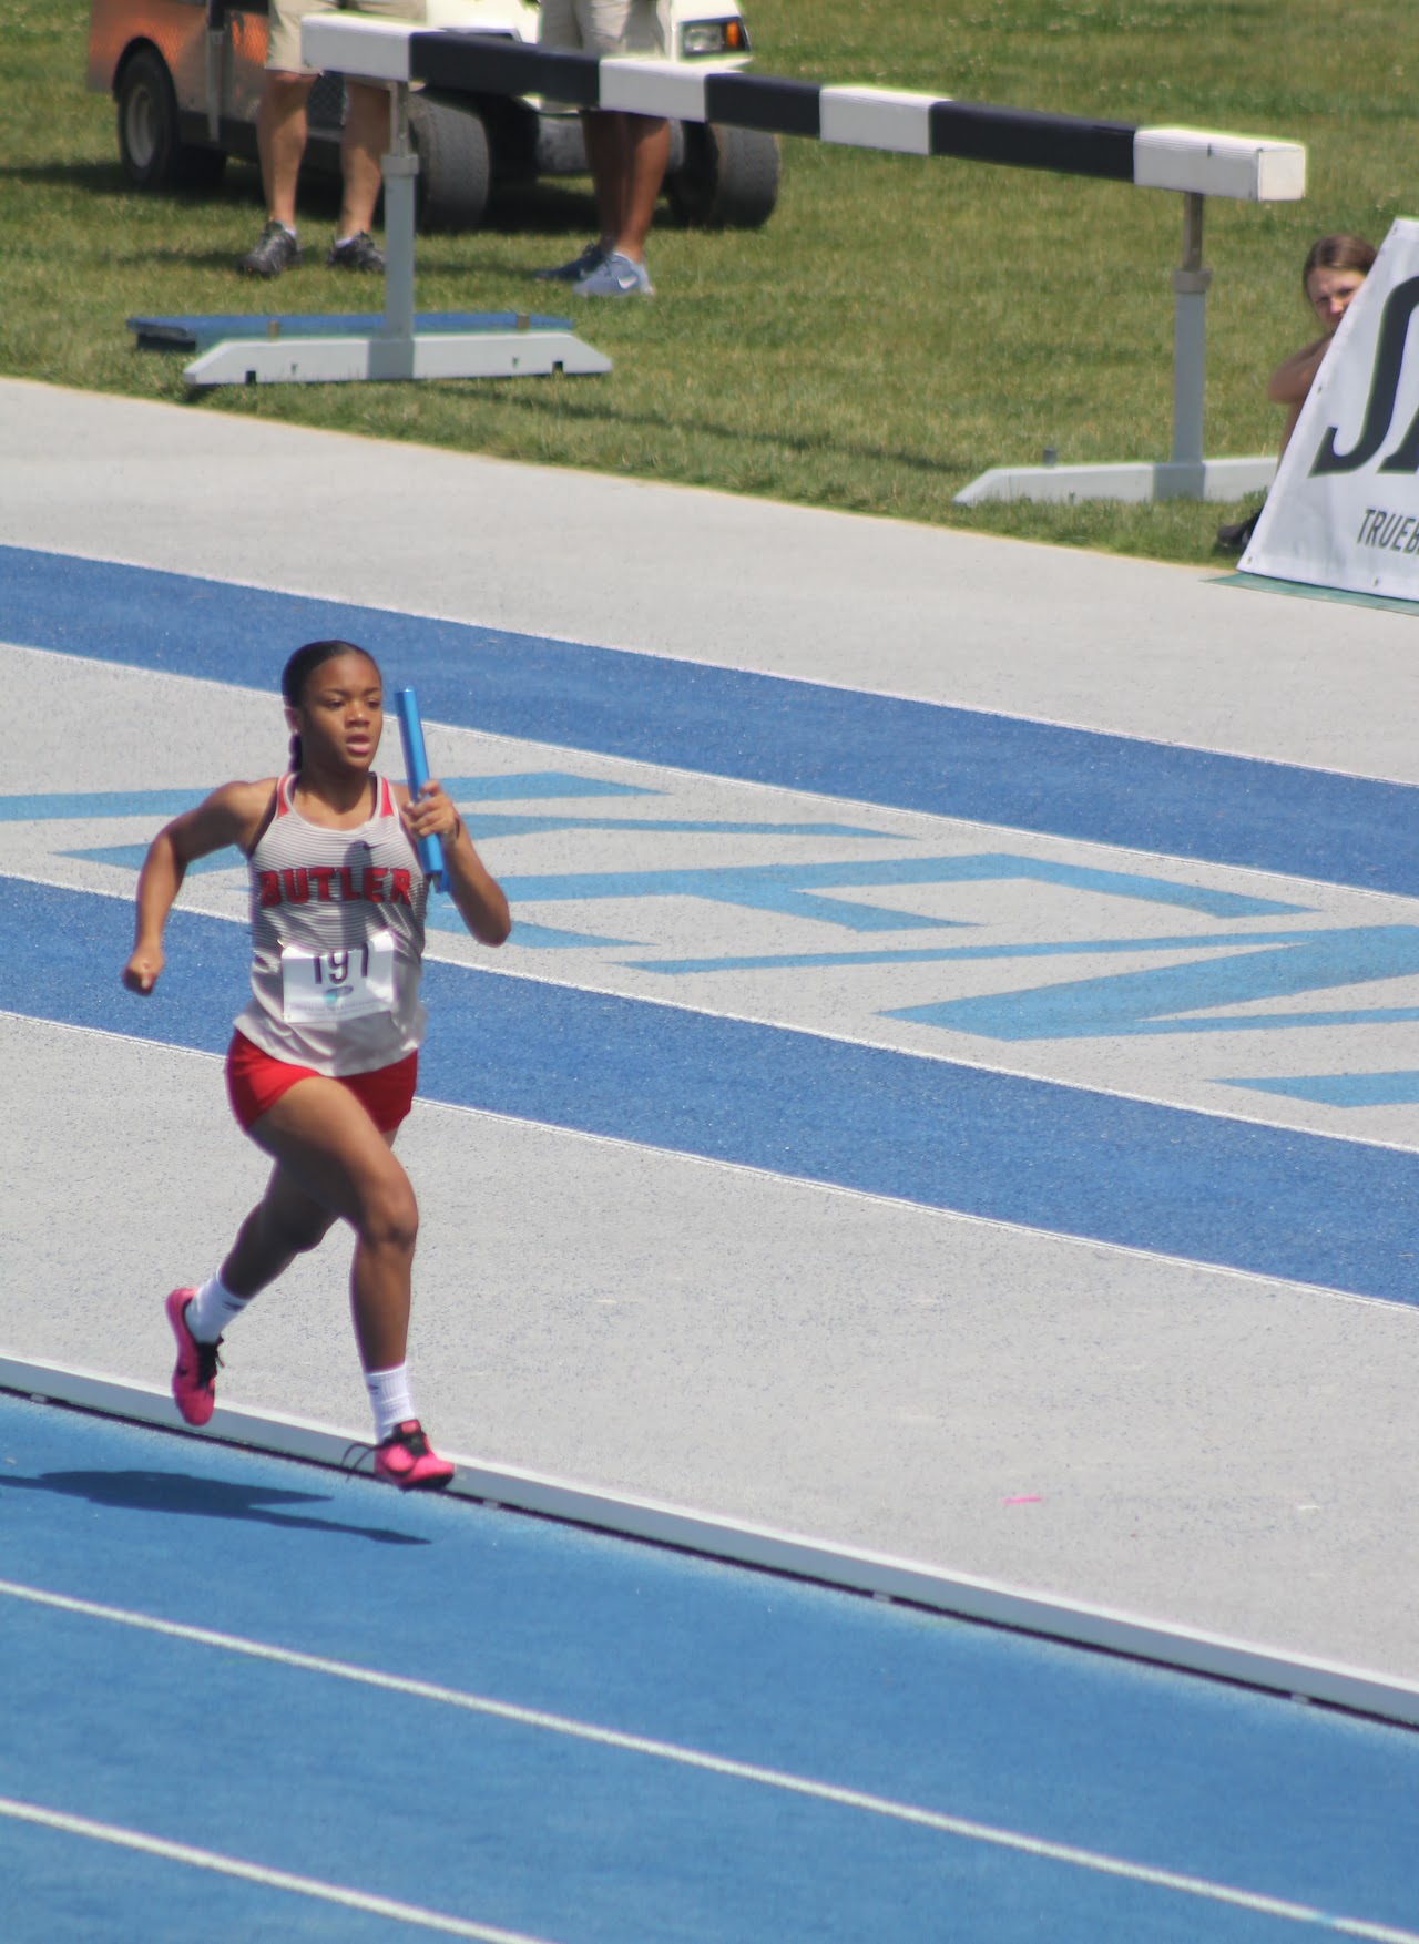
[[[270,39],[266,43],[266,86],[257,111],[260,181],[266,191],[266,227],[237,268],[247,276],[280,276],[301,260],[295,235],[295,179],[305,154],[305,105],[315,86],[315,70],[301,60],[301,21],[307,14],[344,8],[346,0],[270,0]],[[360,0],[354,14],[379,14],[422,21],[424,0]],[[346,119],[340,144],[344,194],[340,227],[325,259],[336,270],[383,270],[385,257],[369,226],[379,198],[379,157],[389,146],[389,89],[373,82],[346,84]]]

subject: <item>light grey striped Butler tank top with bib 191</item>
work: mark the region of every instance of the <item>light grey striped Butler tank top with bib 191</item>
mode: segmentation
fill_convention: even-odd
[[[253,846],[251,1003],[237,1030],[315,1073],[373,1073],[424,1040],[428,879],[383,776],[354,830],[307,822],[295,776]]]

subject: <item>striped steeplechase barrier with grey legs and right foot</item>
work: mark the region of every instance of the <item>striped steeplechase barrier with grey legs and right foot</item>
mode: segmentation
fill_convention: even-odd
[[[999,467],[972,480],[956,502],[1234,500],[1267,486],[1275,472],[1271,457],[1203,457],[1211,286],[1211,270],[1203,264],[1203,212],[1207,196],[1244,202],[1295,202],[1304,196],[1306,152],[1298,142],[1201,128],[1139,128],[954,101],[949,95],[836,87],[673,60],[568,54],[494,35],[420,29],[350,14],[315,16],[305,21],[301,37],[313,66],[389,82],[397,99],[410,82],[463,93],[535,93],[583,109],[727,122],[851,148],[951,156],[1174,191],[1182,196],[1182,262],[1172,272],[1172,455],[1159,463]],[[389,163],[397,173],[385,192],[391,239],[385,307],[389,315],[406,317],[414,307],[412,171],[418,163],[400,154],[398,142]],[[391,206],[391,191],[402,191],[404,177],[408,194]]]

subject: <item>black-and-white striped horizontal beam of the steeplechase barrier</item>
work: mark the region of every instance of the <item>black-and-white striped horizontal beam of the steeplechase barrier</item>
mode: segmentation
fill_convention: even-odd
[[[1246,202],[1293,202],[1306,191],[1306,152],[1298,142],[1201,128],[1137,128],[892,87],[787,82],[680,60],[568,54],[507,37],[369,17],[317,16],[301,33],[311,66],[371,82],[544,95],[581,109],[727,122],[849,148],[952,156]]]

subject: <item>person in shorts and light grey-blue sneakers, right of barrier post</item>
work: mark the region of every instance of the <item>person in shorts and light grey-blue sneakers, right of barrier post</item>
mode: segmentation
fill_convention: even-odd
[[[657,0],[542,0],[538,43],[583,54],[657,56],[665,54],[665,23]],[[645,237],[671,159],[671,124],[659,115],[583,109],[581,126],[601,235],[570,262],[536,274],[570,284],[579,297],[649,297]]]

